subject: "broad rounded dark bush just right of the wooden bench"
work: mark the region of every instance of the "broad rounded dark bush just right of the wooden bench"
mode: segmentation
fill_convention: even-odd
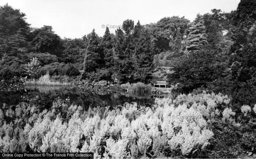
[[[223,76],[224,66],[219,64],[219,56],[204,49],[182,56],[168,75],[169,83],[180,83],[182,91],[189,92],[200,86],[206,86]]]

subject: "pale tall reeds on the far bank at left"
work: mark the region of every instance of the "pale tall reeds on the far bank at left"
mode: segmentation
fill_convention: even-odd
[[[25,85],[38,85],[38,86],[74,86],[74,82],[60,82],[55,81],[50,77],[49,73],[44,76],[41,76],[39,80],[26,81]]]

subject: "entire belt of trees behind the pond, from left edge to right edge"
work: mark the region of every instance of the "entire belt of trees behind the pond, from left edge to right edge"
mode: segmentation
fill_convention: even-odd
[[[154,68],[165,65],[174,72],[169,84],[180,83],[182,92],[232,92],[243,103],[241,90],[255,95],[255,5],[242,0],[235,11],[212,9],[191,23],[173,16],[144,27],[127,19],[115,34],[106,28],[99,37],[93,29],[80,39],[61,39],[51,26],[31,28],[24,13],[6,4],[0,8],[0,78],[26,76],[33,57],[41,65],[38,76],[117,83],[148,83]]]

